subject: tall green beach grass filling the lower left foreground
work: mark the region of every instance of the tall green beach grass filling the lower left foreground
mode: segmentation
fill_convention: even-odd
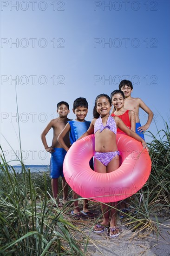
[[[23,168],[21,179],[1,156],[0,255],[83,255],[73,235],[76,227],[47,205],[46,175],[41,175],[42,191]]]

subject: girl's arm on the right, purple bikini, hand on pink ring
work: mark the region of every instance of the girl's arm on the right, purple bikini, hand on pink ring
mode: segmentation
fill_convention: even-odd
[[[120,118],[118,118],[117,116],[114,116],[113,118],[115,119],[118,128],[120,128],[128,136],[136,139],[137,141],[142,142],[143,148],[146,148],[146,150],[149,151],[149,149],[146,145],[146,142],[139,135],[137,135],[135,132],[133,132],[132,130],[127,128],[127,126],[124,124],[124,122],[122,120],[120,120]]]

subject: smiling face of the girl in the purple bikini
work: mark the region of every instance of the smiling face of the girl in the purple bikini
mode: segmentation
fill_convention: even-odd
[[[96,102],[96,110],[101,117],[110,114],[111,104],[106,97],[98,98]]]

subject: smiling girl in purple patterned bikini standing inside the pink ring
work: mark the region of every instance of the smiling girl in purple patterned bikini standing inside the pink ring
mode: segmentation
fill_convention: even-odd
[[[140,141],[143,148],[147,148],[145,141],[135,132],[126,127],[124,122],[117,116],[111,117],[111,98],[107,94],[97,96],[93,109],[93,120],[87,132],[78,140],[91,134],[95,134],[95,155],[94,171],[98,173],[110,173],[119,167],[119,151],[116,143],[117,127],[126,135]],[[112,208],[109,209],[101,203],[103,221],[93,227],[93,232],[102,233],[110,227],[110,236],[116,237],[120,234],[117,227],[116,202],[111,202]]]

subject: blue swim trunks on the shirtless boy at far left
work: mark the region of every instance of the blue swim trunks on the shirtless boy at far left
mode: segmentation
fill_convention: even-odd
[[[63,175],[63,162],[66,155],[66,151],[64,148],[54,148],[54,152],[51,154],[50,158],[50,177],[52,179],[57,179],[61,175]]]

